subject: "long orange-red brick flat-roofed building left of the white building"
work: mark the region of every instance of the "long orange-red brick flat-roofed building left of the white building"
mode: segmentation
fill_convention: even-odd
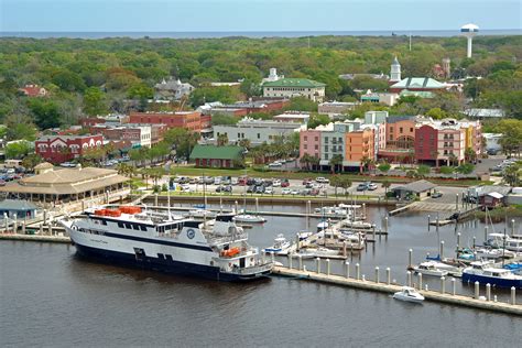
[[[198,111],[131,112],[130,123],[165,124],[167,129],[184,128],[193,132],[202,131],[202,113]]]

